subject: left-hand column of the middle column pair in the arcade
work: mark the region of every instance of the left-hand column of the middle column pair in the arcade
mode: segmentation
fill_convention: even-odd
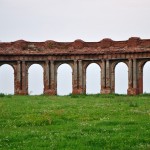
[[[78,64],[77,64],[77,60],[74,60],[74,65],[73,65],[73,94],[78,94]]]

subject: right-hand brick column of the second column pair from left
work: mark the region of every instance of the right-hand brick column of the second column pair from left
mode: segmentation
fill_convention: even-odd
[[[57,94],[56,78],[57,72],[55,72],[54,61],[50,61],[50,90],[48,90],[48,94],[50,95]]]

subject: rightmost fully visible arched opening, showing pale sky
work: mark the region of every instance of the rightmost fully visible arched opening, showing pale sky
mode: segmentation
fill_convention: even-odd
[[[120,62],[115,67],[115,93],[127,94],[128,89],[128,66]]]

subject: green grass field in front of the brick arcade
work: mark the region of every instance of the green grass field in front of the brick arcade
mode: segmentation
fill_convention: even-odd
[[[150,150],[150,95],[0,95],[2,150]]]

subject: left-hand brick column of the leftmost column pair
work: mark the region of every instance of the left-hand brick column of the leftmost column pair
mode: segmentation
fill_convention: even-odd
[[[15,69],[15,94],[21,94],[21,64],[17,61],[17,66]]]

